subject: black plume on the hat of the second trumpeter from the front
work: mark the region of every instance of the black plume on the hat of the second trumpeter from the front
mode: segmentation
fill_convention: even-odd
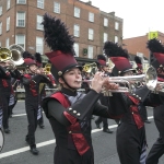
[[[106,42],[104,44],[104,52],[107,57],[125,57],[129,58],[128,51],[122,49],[121,46],[113,42]]]

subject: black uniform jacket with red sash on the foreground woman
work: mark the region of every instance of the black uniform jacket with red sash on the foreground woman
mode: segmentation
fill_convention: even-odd
[[[113,110],[119,110],[119,114],[125,114],[127,110],[125,102],[120,101],[120,105],[124,106],[124,110],[117,108],[120,94],[113,96],[113,105],[115,108],[110,113],[110,107],[101,105],[97,101],[99,94],[94,90],[91,90],[86,95],[72,92],[68,89],[62,89],[60,93],[62,97],[56,97],[57,93],[46,97],[43,101],[43,108],[47,118],[52,127],[56,143],[62,148],[78,150],[74,137],[79,134],[79,147],[85,148],[82,152],[78,152],[82,155],[86,150],[92,147],[91,141],[91,116],[97,115],[102,117],[113,118]],[[59,94],[60,95],[60,94]],[[73,102],[75,98],[75,102]],[[65,105],[65,101],[69,102],[69,105]],[[116,116],[116,115],[115,115]]]

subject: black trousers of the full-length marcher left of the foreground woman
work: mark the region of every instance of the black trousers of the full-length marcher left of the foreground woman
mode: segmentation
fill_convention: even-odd
[[[37,110],[38,110],[37,101],[36,102],[25,101],[25,108],[28,120],[26,141],[28,141],[31,148],[36,148],[35,131],[37,128]]]

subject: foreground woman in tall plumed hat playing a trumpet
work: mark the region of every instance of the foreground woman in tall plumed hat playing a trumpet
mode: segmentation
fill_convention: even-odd
[[[51,73],[61,90],[43,101],[43,108],[56,138],[55,164],[93,164],[91,141],[91,116],[110,117],[110,108],[97,103],[99,93],[118,85],[108,82],[97,72],[92,80],[92,89],[85,95],[77,92],[81,87],[81,70],[74,56],[74,40],[65,24],[48,14],[44,15],[45,40],[51,52],[46,56],[51,62]],[[117,94],[115,95],[117,96]],[[115,99],[114,96],[114,99]],[[119,98],[119,97],[117,97]],[[115,104],[115,101],[113,101]],[[124,102],[120,102],[122,106]],[[117,109],[117,104],[115,110]],[[121,114],[126,110],[121,110]]]

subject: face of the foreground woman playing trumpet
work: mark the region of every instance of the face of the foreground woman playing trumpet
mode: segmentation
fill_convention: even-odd
[[[80,89],[82,83],[82,75],[79,68],[73,68],[63,74],[63,79],[72,89]],[[65,87],[68,87],[67,84],[60,79],[59,81]]]

